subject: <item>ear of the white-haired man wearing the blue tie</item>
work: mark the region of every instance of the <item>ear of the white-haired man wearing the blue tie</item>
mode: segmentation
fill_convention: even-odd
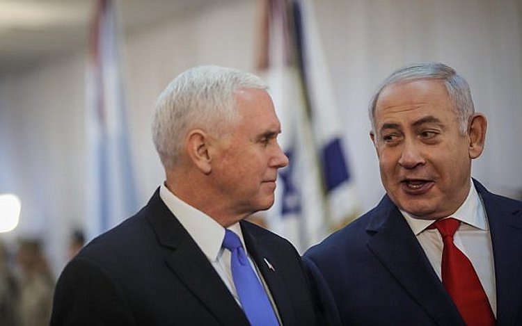
[[[212,170],[212,156],[209,153],[211,138],[201,129],[193,129],[187,135],[187,153],[191,162],[203,173],[209,174]]]

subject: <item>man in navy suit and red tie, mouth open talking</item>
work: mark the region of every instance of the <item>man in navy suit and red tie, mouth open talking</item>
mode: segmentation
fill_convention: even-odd
[[[403,67],[370,104],[386,195],[305,254],[333,325],[522,325],[522,202],[471,177],[487,120],[442,63]]]

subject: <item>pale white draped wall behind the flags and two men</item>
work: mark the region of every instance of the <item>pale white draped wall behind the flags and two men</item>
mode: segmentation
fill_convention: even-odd
[[[345,121],[363,211],[383,194],[368,137],[367,101],[395,68],[441,60],[470,83],[486,113],[486,151],[473,175],[492,190],[522,188],[522,8],[517,0],[315,0],[319,33]],[[258,3],[232,1],[127,35],[124,72],[132,154],[145,204],[163,180],[150,137],[152,109],[173,76],[214,63],[255,72]],[[40,235],[56,272],[66,236],[86,218],[84,54],[0,76],[0,193],[22,197],[19,228]]]

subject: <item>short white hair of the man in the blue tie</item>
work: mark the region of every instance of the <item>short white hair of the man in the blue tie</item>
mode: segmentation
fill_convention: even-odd
[[[165,168],[180,156],[184,137],[194,128],[223,136],[237,119],[235,92],[267,90],[258,76],[228,67],[193,67],[178,75],[161,92],[152,121],[152,139]]]

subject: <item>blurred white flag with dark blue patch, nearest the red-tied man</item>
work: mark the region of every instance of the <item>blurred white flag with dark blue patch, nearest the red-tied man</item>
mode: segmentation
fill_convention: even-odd
[[[350,174],[342,140],[342,120],[333,95],[331,77],[320,42],[312,3],[296,1],[296,22],[301,22],[301,54],[306,88],[310,99],[310,121],[319,156],[327,218],[331,231],[354,220],[359,213],[359,200]]]

